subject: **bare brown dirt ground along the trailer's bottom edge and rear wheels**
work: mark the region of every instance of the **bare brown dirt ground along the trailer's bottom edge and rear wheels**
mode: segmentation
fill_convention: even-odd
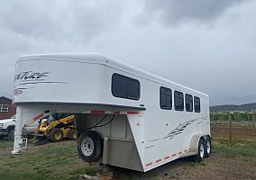
[[[187,158],[182,158],[147,173],[133,172],[133,175],[131,175],[131,172],[127,170],[114,168],[114,174],[116,179],[255,180],[256,166],[252,166],[244,157],[228,158],[224,157],[224,155],[213,153],[210,158],[199,164],[192,163]]]

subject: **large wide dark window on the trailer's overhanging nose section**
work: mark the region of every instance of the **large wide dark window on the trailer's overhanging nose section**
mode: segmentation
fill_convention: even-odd
[[[114,73],[111,91],[115,97],[139,100],[141,85],[136,79]]]

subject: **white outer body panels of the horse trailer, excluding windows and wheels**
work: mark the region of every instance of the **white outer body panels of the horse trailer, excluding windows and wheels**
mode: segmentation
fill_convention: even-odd
[[[140,82],[138,100],[119,98],[112,94],[114,73]],[[161,86],[171,89],[171,110],[160,108]],[[186,112],[186,109],[176,111],[175,91],[199,97],[200,112]],[[17,121],[18,118],[22,121],[21,124],[46,110],[73,113],[131,112],[127,113],[127,121],[142,165],[137,170],[142,171],[186,156],[191,139],[196,134],[210,136],[208,95],[99,54],[20,58],[15,64],[14,103],[23,107],[22,115],[17,117]],[[15,133],[17,137],[20,135]],[[16,148],[19,148],[17,144]]]

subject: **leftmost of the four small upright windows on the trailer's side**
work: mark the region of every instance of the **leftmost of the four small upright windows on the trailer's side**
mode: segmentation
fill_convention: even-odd
[[[172,108],[171,90],[166,87],[160,87],[160,108],[164,110],[171,110]]]

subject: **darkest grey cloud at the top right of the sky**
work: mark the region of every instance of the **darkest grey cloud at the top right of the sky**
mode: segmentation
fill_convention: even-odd
[[[235,4],[246,0],[147,0],[145,10],[149,18],[168,25],[196,22],[211,23]]]

